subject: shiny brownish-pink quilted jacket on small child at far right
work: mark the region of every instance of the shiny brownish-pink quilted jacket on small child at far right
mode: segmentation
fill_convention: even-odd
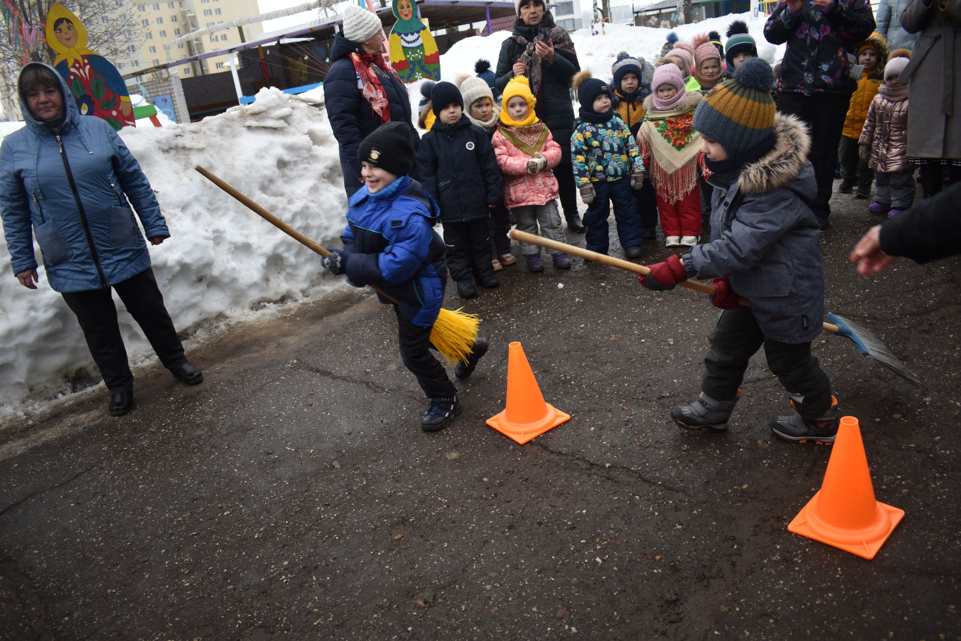
[[[882,85],[868,109],[858,144],[871,147],[872,171],[909,171],[907,160],[907,86]]]

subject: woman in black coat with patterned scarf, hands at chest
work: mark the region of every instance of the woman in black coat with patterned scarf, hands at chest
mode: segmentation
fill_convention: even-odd
[[[574,43],[567,30],[554,24],[554,16],[547,11],[543,0],[514,1],[517,6],[514,32],[501,46],[494,86],[500,94],[515,75],[527,76],[530,90],[537,98],[537,114],[551,130],[554,140],[564,148],[574,133],[571,80],[580,70]],[[554,176],[567,227],[583,232],[569,152],[563,154],[560,164],[554,167]]]

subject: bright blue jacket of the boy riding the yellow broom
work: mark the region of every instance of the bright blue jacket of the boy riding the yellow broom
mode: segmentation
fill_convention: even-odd
[[[397,299],[401,314],[420,327],[433,325],[447,284],[447,248],[433,231],[439,213],[417,181],[401,176],[376,194],[366,185],[360,187],[350,198],[347,228],[340,234],[344,251],[351,255],[347,280],[379,286]]]

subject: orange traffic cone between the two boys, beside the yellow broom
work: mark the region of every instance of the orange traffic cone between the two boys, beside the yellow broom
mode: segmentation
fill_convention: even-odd
[[[487,419],[487,425],[524,445],[534,436],[555,428],[571,415],[544,402],[530,370],[524,348],[516,340],[507,352],[507,407]]]

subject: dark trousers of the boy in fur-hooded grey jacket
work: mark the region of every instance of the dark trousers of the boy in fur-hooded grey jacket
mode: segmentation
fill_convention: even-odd
[[[711,349],[704,357],[701,390],[719,401],[733,399],[744,381],[748,361],[761,345],[768,367],[794,399],[804,418],[824,414],[831,407],[827,375],[811,354],[811,343],[782,343],[768,338],[754,320],[751,308],[725,309],[708,336]]]

